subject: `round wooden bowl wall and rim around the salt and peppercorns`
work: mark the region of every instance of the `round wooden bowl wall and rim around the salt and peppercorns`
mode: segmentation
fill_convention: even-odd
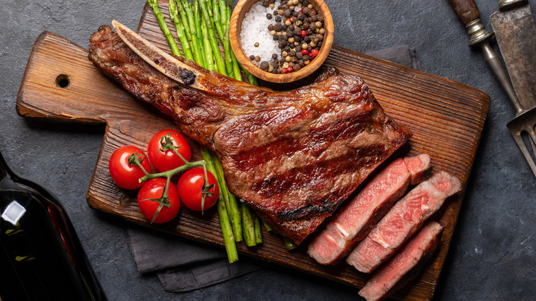
[[[322,47],[320,47],[316,58],[312,60],[309,65],[302,67],[302,69],[299,71],[293,71],[288,74],[273,74],[271,72],[263,71],[254,65],[254,63],[247,58],[242,49],[242,42],[240,38],[242,21],[245,17],[245,14],[252,8],[252,5],[259,1],[260,0],[240,0],[233,10],[229,32],[231,47],[238,62],[240,62],[242,66],[251,74],[268,82],[293,82],[312,74],[322,65],[322,63],[324,63],[324,60],[326,60],[328,57],[331,46],[333,45],[333,18],[331,17],[331,12],[329,12],[326,3],[324,3],[322,0],[309,0],[309,3],[313,4],[313,7],[317,10],[318,15],[324,17],[324,30],[326,31],[324,33]]]

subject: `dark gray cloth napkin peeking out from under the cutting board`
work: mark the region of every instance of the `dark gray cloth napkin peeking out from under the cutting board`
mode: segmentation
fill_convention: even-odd
[[[405,45],[367,54],[421,70],[415,49]],[[164,290],[174,293],[208,287],[268,265],[245,256],[230,264],[225,249],[139,225],[129,224],[127,236],[137,269],[144,274],[155,273]]]

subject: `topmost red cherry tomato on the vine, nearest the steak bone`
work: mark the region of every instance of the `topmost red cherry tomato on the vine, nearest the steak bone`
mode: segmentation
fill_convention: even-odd
[[[177,152],[181,154],[186,161],[190,161],[192,157],[192,149],[183,135],[170,129],[159,131],[150,138],[147,147],[150,163],[152,163],[159,172],[172,170],[184,165],[184,161],[172,149],[166,148],[166,150],[164,150],[162,143],[166,144],[166,142],[170,142],[175,146]]]

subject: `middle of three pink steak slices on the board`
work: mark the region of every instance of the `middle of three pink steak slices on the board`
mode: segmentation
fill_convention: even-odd
[[[379,221],[368,236],[355,247],[346,262],[370,273],[418,230],[447,197],[460,191],[458,178],[440,171],[407,192]]]

